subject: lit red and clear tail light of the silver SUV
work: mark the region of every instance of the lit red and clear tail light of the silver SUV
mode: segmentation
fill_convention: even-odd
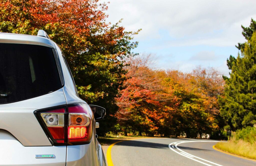
[[[77,103],[35,111],[53,145],[87,144],[92,138],[90,106]]]

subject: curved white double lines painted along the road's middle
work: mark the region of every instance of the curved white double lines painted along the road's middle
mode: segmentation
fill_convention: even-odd
[[[214,163],[214,162],[211,162],[211,161],[202,159],[202,158],[200,158],[200,157],[197,157],[197,156],[195,156],[195,155],[189,154],[189,153],[187,153],[187,152],[185,152],[185,151],[183,151],[183,150],[181,150],[181,149],[179,149],[179,148],[177,147],[178,144],[180,144],[180,143],[186,143],[186,142],[220,142],[220,141],[179,141],[179,142],[170,143],[170,144],[169,144],[169,148],[170,148],[172,151],[174,151],[174,152],[176,152],[176,153],[178,153],[178,154],[180,154],[180,155],[182,155],[182,156],[184,156],[184,157],[186,157],[186,158],[189,158],[189,159],[191,159],[191,160],[197,161],[197,162],[199,162],[199,163],[202,163],[202,164],[211,166],[210,164],[207,164],[207,163],[205,163],[205,162],[202,162],[202,161],[199,161],[199,160],[194,159],[194,157],[197,158],[197,159],[206,161],[206,162],[208,162],[208,163],[214,164],[214,165],[222,166],[222,165],[220,165],[220,164],[217,164],[217,163]],[[176,148],[177,150],[181,151],[181,152],[178,152],[178,151],[174,150],[174,148],[173,148],[173,146],[171,146],[171,144],[175,144],[175,148]]]

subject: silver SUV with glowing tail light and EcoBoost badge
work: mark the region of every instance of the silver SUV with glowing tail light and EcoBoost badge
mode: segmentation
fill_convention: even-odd
[[[46,32],[0,33],[0,165],[106,165],[95,131],[104,115],[79,98]]]

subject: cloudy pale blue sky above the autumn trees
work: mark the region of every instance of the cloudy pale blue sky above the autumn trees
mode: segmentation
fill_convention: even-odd
[[[135,53],[152,54],[156,69],[213,67],[228,76],[227,58],[245,41],[241,25],[256,19],[255,0],[108,0],[107,22],[142,31]]]

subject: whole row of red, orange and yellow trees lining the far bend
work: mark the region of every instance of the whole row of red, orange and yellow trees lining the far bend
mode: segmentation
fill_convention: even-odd
[[[138,131],[158,134],[170,129],[183,132],[218,127],[215,114],[223,79],[216,70],[197,68],[188,74],[156,71],[148,66],[149,57],[128,63],[126,88],[116,98],[119,111],[115,116],[121,125],[137,125]]]

